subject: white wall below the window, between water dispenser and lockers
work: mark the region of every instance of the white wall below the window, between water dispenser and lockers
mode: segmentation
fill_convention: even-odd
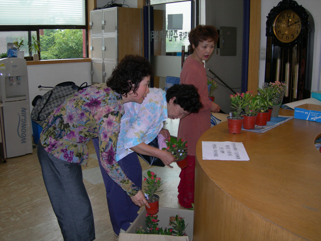
[[[55,86],[65,81],[75,82],[78,86],[83,82],[90,85],[90,68],[90,62],[28,65],[30,111],[33,108],[31,103],[35,96],[43,95],[50,90],[49,88],[39,89],[39,85]]]

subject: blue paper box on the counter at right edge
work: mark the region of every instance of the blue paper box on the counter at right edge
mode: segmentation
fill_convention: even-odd
[[[302,104],[294,108],[294,118],[321,123],[321,105]]]

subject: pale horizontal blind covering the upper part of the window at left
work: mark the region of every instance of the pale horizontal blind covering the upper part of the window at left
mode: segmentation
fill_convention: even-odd
[[[85,0],[1,0],[0,25],[85,25]]]

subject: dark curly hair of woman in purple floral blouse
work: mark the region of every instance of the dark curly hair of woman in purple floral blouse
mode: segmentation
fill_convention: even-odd
[[[107,79],[107,86],[117,93],[127,97],[131,90],[139,87],[140,81],[152,76],[153,70],[149,61],[139,55],[125,55]]]

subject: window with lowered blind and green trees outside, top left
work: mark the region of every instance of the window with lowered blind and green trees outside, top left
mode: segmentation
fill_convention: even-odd
[[[0,8],[0,57],[7,44],[23,40],[32,56],[33,36],[40,41],[41,59],[87,57],[85,0],[3,0]]]

